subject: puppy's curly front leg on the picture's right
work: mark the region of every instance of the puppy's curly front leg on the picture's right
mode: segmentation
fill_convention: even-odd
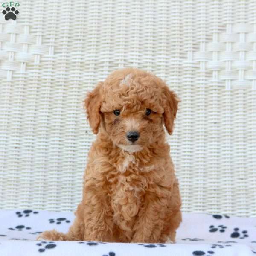
[[[145,195],[145,204],[140,209],[134,225],[133,243],[158,243],[164,226],[168,198],[159,198],[154,193]]]

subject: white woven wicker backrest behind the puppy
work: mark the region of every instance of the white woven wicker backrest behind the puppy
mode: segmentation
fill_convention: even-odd
[[[74,210],[94,136],[82,100],[120,67],[182,100],[185,212],[256,216],[255,0],[20,1],[0,17],[0,208]]]

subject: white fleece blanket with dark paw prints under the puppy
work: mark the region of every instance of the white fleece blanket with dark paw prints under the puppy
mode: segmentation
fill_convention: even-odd
[[[44,230],[66,232],[72,212],[0,211],[0,256],[252,256],[256,218],[184,213],[175,244],[36,241]]]

